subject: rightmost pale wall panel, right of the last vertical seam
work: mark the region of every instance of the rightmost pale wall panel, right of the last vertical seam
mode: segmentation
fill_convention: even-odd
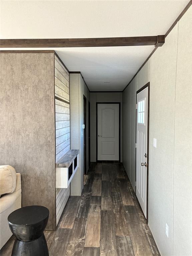
[[[192,255],[192,7],[178,26],[173,255]]]

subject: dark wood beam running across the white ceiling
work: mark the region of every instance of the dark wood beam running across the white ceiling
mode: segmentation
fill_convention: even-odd
[[[157,45],[160,38],[160,45]],[[164,40],[164,41],[163,41]],[[106,46],[161,46],[165,36],[135,36],[106,38],[70,38],[70,39],[0,39],[0,48],[13,47],[106,47]]]

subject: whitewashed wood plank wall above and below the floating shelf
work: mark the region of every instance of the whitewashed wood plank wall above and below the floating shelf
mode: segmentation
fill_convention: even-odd
[[[56,162],[70,149],[69,72],[55,55]],[[56,188],[56,224],[70,196],[70,185]]]

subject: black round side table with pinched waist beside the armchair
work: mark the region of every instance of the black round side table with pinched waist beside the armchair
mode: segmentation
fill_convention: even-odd
[[[49,256],[44,229],[49,210],[44,206],[22,207],[8,216],[9,227],[17,238],[12,256]]]

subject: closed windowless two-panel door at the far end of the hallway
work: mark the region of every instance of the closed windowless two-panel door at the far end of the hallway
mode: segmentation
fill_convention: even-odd
[[[119,160],[119,104],[97,104],[97,160]]]

